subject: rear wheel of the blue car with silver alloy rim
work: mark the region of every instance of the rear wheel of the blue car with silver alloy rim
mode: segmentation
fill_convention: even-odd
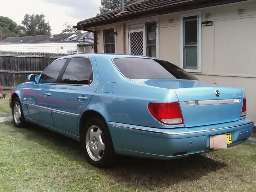
[[[104,120],[100,118],[88,120],[84,126],[81,141],[85,157],[90,164],[99,168],[111,167],[115,152]]]

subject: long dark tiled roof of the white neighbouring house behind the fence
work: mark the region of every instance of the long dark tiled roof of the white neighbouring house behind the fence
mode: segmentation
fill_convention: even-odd
[[[25,37],[7,37],[2,43],[49,43],[59,42],[73,36],[74,34],[58,34],[58,35],[36,35]],[[22,42],[21,42],[22,40]]]

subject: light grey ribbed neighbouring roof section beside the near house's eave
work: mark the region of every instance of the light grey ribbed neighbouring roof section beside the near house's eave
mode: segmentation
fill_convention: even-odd
[[[94,45],[94,35],[92,32],[85,32],[80,35],[62,40],[62,42],[80,42],[78,44],[79,46],[90,46],[90,45]]]

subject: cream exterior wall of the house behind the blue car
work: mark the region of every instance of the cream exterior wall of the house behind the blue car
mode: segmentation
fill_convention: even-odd
[[[245,8],[245,14],[238,15],[237,10]],[[241,87],[247,100],[247,117],[256,121],[256,2],[245,2],[213,6],[158,16],[158,52],[159,58],[169,60],[182,67],[180,60],[181,48],[181,15],[201,13],[202,21],[213,21],[212,26],[201,27],[201,68],[199,73],[192,73],[202,81],[222,86]],[[211,13],[210,19],[205,14]],[[153,18],[147,18],[153,19]],[[127,22],[127,28],[139,29],[145,20]],[[123,40],[121,24],[116,27],[116,53],[128,53],[128,36]],[[102,29],[97,28],[98,52],[103,53]],[[125,51],[119,49],[125,43]]]

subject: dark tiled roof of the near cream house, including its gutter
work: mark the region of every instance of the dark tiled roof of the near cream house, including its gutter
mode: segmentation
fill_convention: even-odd
[[[96,17],[79,21],[74,28],[83,30],[127,20],[240,1],[247,0],[144,0],[125,6],[124,12],[122,13],[120,12],[120,9],[116,9]]]

